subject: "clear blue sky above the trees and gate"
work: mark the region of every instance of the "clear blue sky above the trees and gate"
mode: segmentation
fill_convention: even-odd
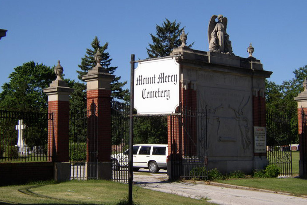
[[[281,84],[307,64],[306,8],[307,1],[295,0],[0,0],[0,29],[8,30],[0,40],[0,85],[29,61],[53,66],[60,60],[65,77],[77,80],[78,64],[95,36],[101,45],[109,43],[112,66],[118,66],[115,74],[129,83],[130,54],[147,57],[156,24],[165,18],[181,22],[187,43],[194,41],[193,49],[208,51],[208,22],[218,14],[228,18],[235,55],[248,57],[252,42],[253,56],[273,71],[269,80]]]

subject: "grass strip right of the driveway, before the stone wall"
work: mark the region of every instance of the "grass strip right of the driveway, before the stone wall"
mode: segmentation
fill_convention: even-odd
[[[307,179],[300,178],[245,178],[216,180],[216,182],[253,187],[272,191],[287,192],[293,195],[307,195]]]

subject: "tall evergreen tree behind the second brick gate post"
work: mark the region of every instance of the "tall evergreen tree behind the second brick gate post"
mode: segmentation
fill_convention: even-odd
[[[107,69],[109,73],[112,75],[114,74],[117,67],[111,66],[112,58],[110,58],[110,55],[108,52],[106,52],[108,48],[108,43],[105,43],[103,46],[99,45],[100,41],[98,40],[98,37],[95,36],[94,40],[91,43],[92,49],[86,49],[86,54],[83,58],[81,58],[81,65],[78,65],[78,67],[81,69],[81,71],[77,71],[78,78],[82,80],[82,76],[87,74],[87,71],[92,69],[96,66],[96,61],[94,55],[97,52],[97,49],[99,49],[100,53],[102,53],[103,58],[100,61],[100,64],[103,68]],[[115,76],[113,81],[111,82],[111,96],[117,99],[121,100],[129,100],[129,90],[123,89],[122,87],[126,85],[127,81],[120,82],[120,76]],[[85,87],[85,85],[84,85]],[[84,88],[85,89],[85,88]]]

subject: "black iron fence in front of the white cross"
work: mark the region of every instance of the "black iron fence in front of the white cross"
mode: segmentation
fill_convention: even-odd
[[[0,110],[0,162],[50,161],[52,113]]]

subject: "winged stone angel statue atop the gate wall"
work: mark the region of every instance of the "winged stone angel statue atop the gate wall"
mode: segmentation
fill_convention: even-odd
[[[218,22],[215,22],[216,18]],[[208,27],[209,50],[211,52],[234,55],[231,48],[231,41],[229,41],[229,35],[226,33],[226,28],[226,17],[223,17],[223,15],[213,15],[211,17]]]

